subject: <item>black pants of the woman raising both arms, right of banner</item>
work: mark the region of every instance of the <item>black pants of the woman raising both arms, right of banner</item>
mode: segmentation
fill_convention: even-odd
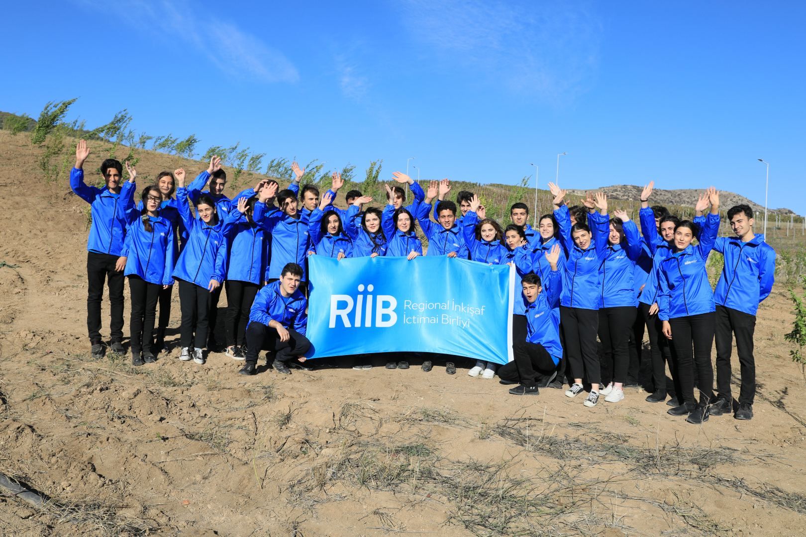
[[[599,329],[599,312],[595,309],[559,307],[560,325],[565,333],[566,353],[571,375],[588,382],[601,380],[599,353],[596,349],[596,332]]]

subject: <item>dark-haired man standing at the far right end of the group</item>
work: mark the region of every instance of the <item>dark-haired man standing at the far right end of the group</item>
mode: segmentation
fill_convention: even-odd
[[[739,407],[733,417],[753,419],[756,388],[753,333],[758,304],[770,295],[775,282],[775,250],[764,242],[763,234],[754,233],[753,209],[749,205],[731,207],[728,220],[735,236],[717,238],[713,245],[714,250],[725,256],[725,266],[713,295],[717,303],[715,339],[718,395],[711,407],[711,414],[733,411],[730,353],[733,334],[736,334],[742,387],[739,391]]]

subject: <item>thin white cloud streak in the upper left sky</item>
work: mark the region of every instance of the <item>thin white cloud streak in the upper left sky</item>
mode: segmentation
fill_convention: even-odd
[[[149,32],[181,39],[228,76],[266,83],[299,81],[297,68],[282,52],[234,23],[206,19],[186,2],[77,0],[77,3],[94,10],[113,11],[121,23],[136,27],[139,37]]]

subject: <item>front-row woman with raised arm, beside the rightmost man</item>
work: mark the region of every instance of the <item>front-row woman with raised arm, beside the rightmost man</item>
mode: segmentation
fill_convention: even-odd
[[[688,423],[708,420],[713,404],[711,347],[716,323],[716,305],[708,282],[706,263],[719,232],[719,192],[708,188],[711,213],[706,217],[700,242],[694,246],[697,225],[682,221],[675,228],[675,246],[658,268],[658,315],[663,335],[671,340],[683,403],[669,409],[671,415],[688,415]],[[693,348],[693,352],[692,352]],[[693,366],[692,366],[693,362]],[[700,403],[694,397],[700,388]]]

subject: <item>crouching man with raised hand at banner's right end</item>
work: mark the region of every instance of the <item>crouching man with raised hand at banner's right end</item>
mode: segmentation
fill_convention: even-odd
[[[526,340],[513,342],[514,361],[502,366],[498,376],[502,384],[520,382],[509,390],[513,395],[537,395],[538,374],[549,377],[557,374],[557,365],[563,356],[559,342],[559,295],[562,277],[557,271],[560,247],[555,245],[546,252],[551,266],[541,282],[540,276],[528,274],[521,279],[526,304]]]

